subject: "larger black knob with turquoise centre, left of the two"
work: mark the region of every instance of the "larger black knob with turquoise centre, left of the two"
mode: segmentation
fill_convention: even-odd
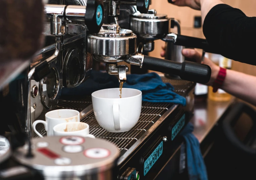
[[[89,32],[98,33],[104,20],[102,0],[88,0],[85,12],[85,24],[90,24]]]

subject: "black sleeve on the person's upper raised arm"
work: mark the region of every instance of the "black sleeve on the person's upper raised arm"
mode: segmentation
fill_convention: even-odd
[[[222,56],[256,65],[256,17],[218,4],[207,14],[203,32],[209,46]]]

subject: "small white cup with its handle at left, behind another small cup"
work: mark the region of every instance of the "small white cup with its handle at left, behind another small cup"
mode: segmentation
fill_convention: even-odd
[[[32,124],[34,132],[39,136],[43,137],[37,130],[36,125],[42,123],[47,132],[47,136],[53,136],[53,127],[57,124],[65,122],[80,122],[79,111],[73,109],[58,109],[53,110],[45,114],[45,121],[37,120]]]

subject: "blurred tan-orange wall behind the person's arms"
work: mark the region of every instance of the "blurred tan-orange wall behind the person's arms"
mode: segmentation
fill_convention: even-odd
[[[256,16],[255,0],[223,0],[224,3],[241,9],[247,16]],[[181,22],[181,34],[204,38],[202,29],[193,31],[194,16],[201,15],[200,11],[188,7],[178,7],[168,3],[167,0],[152,0],[151,9],[156,9],[158,13],[168,14],[168,17],[176,18]],[[155,50],[150,56],[160,57],[161,47],[165,43],[161,40],[155,42]],[[256,76],[256,67],[240,62],[233,61],[232,69]]]

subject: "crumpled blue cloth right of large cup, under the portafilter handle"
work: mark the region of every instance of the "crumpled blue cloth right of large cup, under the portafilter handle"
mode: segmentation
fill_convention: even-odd
[[[174,93],[174,87],[170,83],[164,83],[161,77],[154,72],[129,74],[123,87],[140,90],[142,92],[142,101],[186,105],[186,99]]]

